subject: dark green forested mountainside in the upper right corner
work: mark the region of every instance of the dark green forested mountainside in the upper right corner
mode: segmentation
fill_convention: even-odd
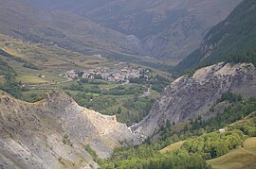
[[[201,46],[182,60],[174,71],[203,67],[219,61],[256,63],[256,2],[244,0],[229,17],[213,26]]]

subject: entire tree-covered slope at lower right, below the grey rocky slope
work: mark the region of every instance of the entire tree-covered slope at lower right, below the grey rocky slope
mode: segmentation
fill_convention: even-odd
[[[101,163],[101,168],[210,167],[206,164],[207,160],[225,155],[230,150],[243,145],[247,137],[256,136],[256,100],[251,98],[243,102],[233,99],[234,97],[239,98],[239,95],[224,94],[222,99],[226,98],[225,101],[229,100],[235,104],[231,104],[229,109],[209,121],[203,122],[198,118],[189,126],[173,132],[171,137],[156,143],[150,143],[148,140],[145,144],[135,147],[117,148],[110,159]],[[247,116],[248,114],[250,115]],[[244,116],[247,117],[244,118]],[[236,123],[232,124],[233,122]],[[177,124],[168,126],[174,127],[174,125]],[[221,127],[225,127],[226,132],[216,131]],[[174,148],[161,154],[162,149],[169,144]]]

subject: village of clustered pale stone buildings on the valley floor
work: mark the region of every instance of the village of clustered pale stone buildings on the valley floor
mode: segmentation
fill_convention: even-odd
[[[103,79],[106,81],[124,82],[129,81],[130,78],[139,77],[142,74],[142,69],[135,69],[130,67],[109,68],[98,67],[95,69],[89,69],[82,72],[70,70],[65,73],[65,76],[70,78],[89,78],[89,79]]]

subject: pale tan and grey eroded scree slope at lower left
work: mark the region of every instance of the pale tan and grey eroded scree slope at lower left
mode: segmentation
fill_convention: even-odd
[[[0,168],[97,168],[84,145],[106,158],[133,137],[115,116],[82,108],[61,92],[34,104],[4,94],[0,108]]]

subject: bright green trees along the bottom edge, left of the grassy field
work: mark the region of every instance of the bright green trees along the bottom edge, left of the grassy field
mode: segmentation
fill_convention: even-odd
[[[137,149],[140,149],[140,151],[134,150],[128,152],[128,150],[120,150],[119,153],[114,152],[114,155],[112,156],[113,159],[111,159],[112,162],[104,162],[101,164],[101,169],[208,168],[206,161],[204,161],[198,154],[189,154],[183,150],[163,155],[155,151],[148,154],[150,153],[148,149]],[[122,154],[122,151],[125,151],[126,153]]]

